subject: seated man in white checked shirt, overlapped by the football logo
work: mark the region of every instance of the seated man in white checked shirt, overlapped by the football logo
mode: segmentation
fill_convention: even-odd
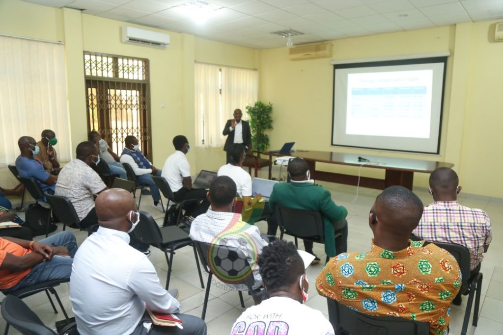
[[[262,278],[256,263],[262,248],[267,246],[268,242],[261,238],[256,226],[248,225],[241,220],[241,215],[232,212],[235,194],[236,184],[232,179],[227,176],[213,179],[207,195],[211,209],[194,219],[189,235],[194,241],[239,248],[253,268],[255,286],[249,294],[253,296],[255,304],[259,304],[264,292],[260,290]],[[244,284],[232,287],[248,291]]]

